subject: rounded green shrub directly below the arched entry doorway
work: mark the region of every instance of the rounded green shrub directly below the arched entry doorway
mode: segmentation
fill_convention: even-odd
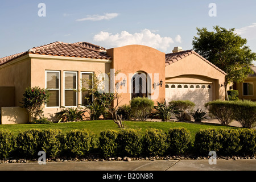
[[[133,98],[130,104],[134,117],[139,118],[140,121],[146,121],[154,108],[154,101],[146,97]]]

